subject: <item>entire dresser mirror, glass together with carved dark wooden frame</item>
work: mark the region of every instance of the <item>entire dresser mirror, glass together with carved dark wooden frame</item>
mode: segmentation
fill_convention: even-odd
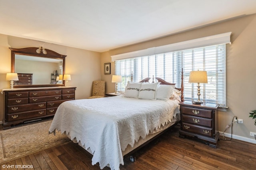
[[[29,47],[11,50],[11,72],[18,73],[14,88],[64,86],[65,57],[49,49]],[[26,80],[30,76],[29,80]],[[28,82],[27,82],[28,81]]]

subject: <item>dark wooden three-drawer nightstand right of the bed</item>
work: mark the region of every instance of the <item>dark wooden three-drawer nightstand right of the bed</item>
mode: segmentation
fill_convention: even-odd
[[[192,102],[180,103],[180,137],[197,137],[210,147],[217,148],[219,104],[207,103],[196,105]]]

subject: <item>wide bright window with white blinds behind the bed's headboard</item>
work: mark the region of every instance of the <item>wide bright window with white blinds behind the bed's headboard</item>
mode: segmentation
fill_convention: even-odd
[[[185,100],[198,98],[197,84],[188,83],[190,71],[205,70],[208,83],[200,84],[200,99],[226,106],[226,44],[116,60],[116,75],[122,75],[123,78],[118,90],[125,90],[131,75],[134,82],[154,76],[176,83],[180,87],[182,68]]]

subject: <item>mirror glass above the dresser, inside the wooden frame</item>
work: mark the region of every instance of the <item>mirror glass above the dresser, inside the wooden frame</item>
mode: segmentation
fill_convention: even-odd
[[[15,54],[15,72],[19,77],[15,85],[62,84],[58,77],[63,74],[63,60]]]

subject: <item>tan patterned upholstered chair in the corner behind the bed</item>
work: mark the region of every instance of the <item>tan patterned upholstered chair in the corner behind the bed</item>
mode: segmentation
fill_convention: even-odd
[[[92,98],[104,98],[105,97],[105,81],[95,80],[92,84]]]

